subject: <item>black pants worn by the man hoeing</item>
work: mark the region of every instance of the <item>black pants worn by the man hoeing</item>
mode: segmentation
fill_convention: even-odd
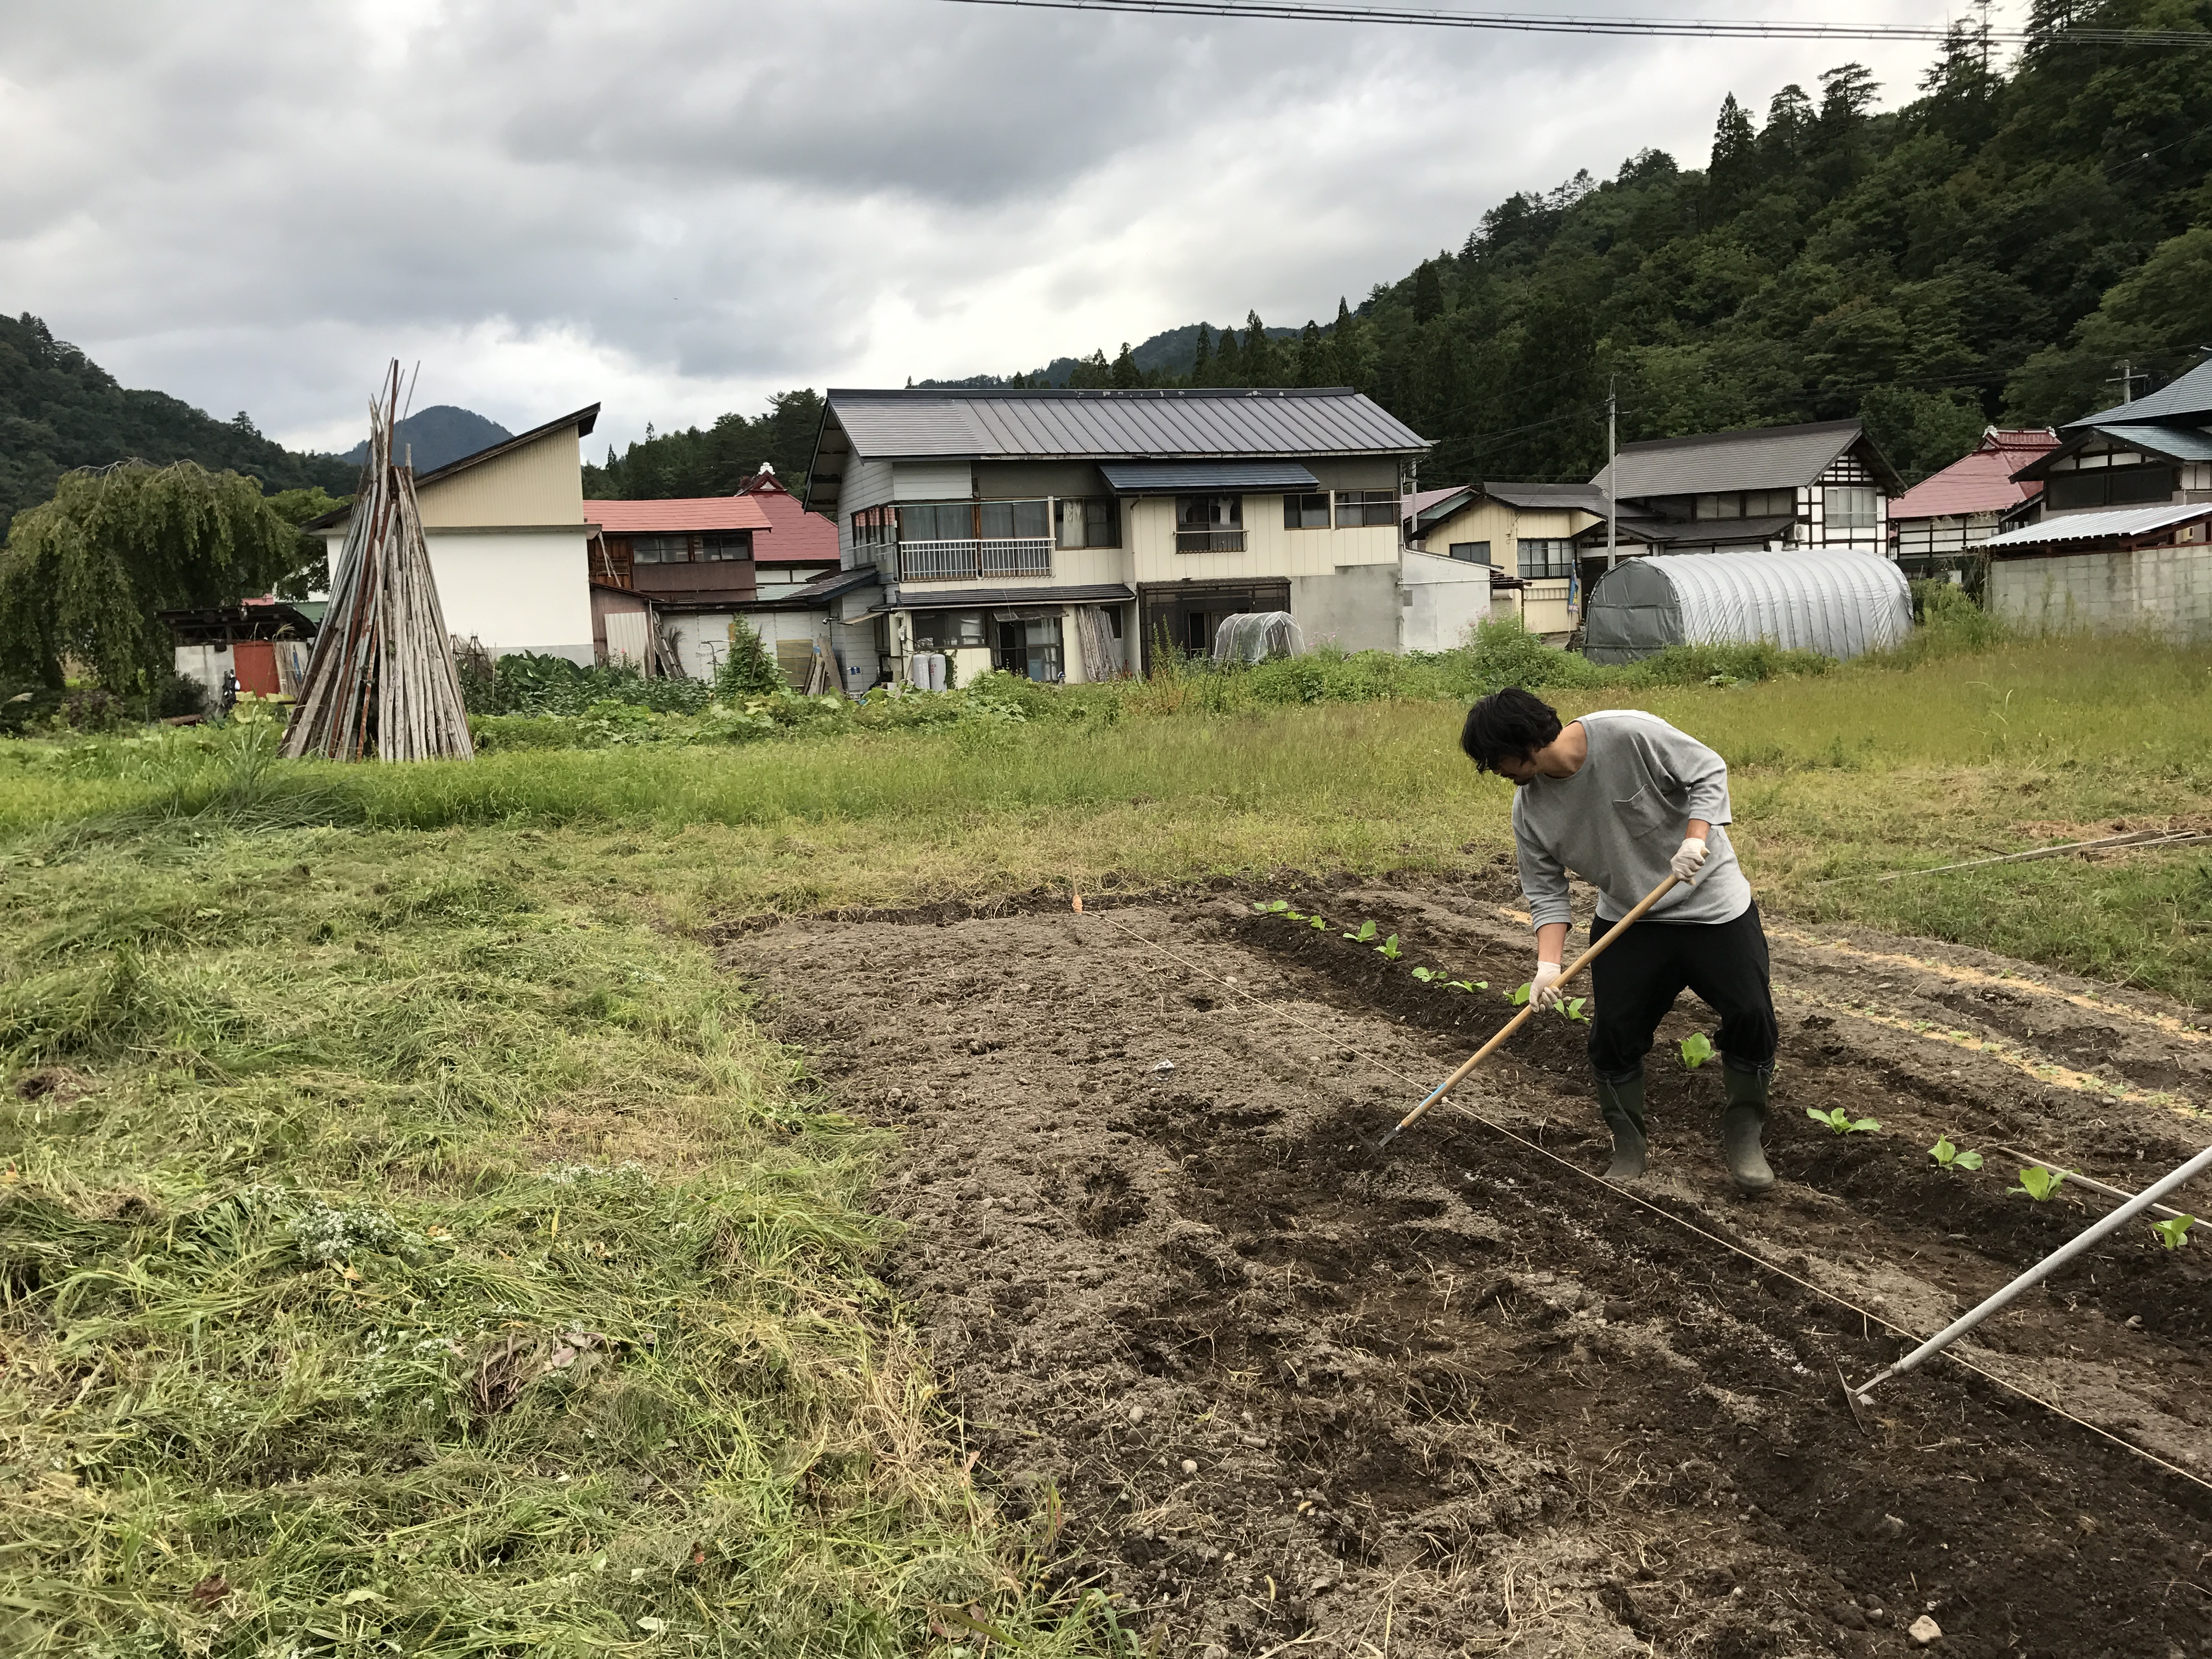
[[[1590,922],[1595,945],[1613,922]],[[1590,964],[1590,1071],[1606,1082],[1635,1077],[1652,1033],[1683,991],[1721,1015],[1714,1046],[1736,1071],[1774,1066],[1778,1031],[1767,989],[1767,933],[1759,905],[1732,922],[1655,922],[1630,927]]]

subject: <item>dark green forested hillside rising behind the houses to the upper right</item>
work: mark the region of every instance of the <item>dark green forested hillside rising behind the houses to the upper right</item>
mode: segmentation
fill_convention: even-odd
[[[1860,64],[1730,95],[1703,168],[1644,150],[1515,195],[1296,334],[1248,312],[951,385],[1354,385],[1436,440],[1425,482],[1590,478],[1613,385],[1624,442],[1860,416],[1922,478],[2212,347],[2208,60],[2053,40],[2075,22],[2212,31],[2212,0],[2035,0],[2008,66],[1960,24],[1891,111]],[[728,491],[759,456],[796,487],[814,411],[611,451],[586,493]]]

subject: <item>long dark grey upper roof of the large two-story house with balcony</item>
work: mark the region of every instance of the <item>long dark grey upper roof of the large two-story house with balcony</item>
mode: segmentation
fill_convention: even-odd
[[[1137,460],[1418,453],[1349,387],[1250,392],[847,392],[827,414],[865,460]]]

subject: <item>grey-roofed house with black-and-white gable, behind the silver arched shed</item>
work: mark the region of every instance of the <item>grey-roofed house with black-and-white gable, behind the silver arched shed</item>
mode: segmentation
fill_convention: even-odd
[[[1610,562],[1637,553],[1885,553],[1905,480],[1858,420],[1752,427],[1621,445],[1590,484],[1615,504]],[[1608,568],[1604,515],[1575,535],[1590,584]]]

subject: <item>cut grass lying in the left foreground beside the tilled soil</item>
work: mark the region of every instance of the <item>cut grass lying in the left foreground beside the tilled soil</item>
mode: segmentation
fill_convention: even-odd
[[[325,830],[0,887],[0,1648],[1088,1646],[938,1433],[874,1141],[538,874]]]

